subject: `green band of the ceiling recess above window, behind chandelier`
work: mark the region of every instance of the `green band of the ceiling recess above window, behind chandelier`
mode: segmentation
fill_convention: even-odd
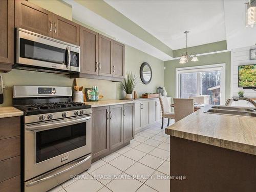
[[[223,51],[223,50],[227,50],[226,40],[187,48],[188,54],[193,54],[194,52],[196,54],[211,53],[211,52]],[[185,48],[174,50],[174,58],[180,57],[184,52],[186,52]]]

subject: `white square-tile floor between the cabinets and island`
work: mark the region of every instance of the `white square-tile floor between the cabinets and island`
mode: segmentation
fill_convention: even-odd
[[[161,124],[153,125],[137,133],[129,145],[93,163],[78,179],[50,192],[168,192],[169,180],[158,178],[169,175],[169,143]]]

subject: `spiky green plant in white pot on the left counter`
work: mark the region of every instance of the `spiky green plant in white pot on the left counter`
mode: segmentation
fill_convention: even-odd
[[[124,82],[121,82],[121,86],[123,91],[126,93],[126,99],[133,98],[133,90],[136,86],[136,77],[135,74],[133,75],[132,72],[126,73],[126,78],[124,78]]]

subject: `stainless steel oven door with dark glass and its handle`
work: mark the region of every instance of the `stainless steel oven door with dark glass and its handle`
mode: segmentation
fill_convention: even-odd
[[[25,181],[92,152],[91,115],[25,125]]]

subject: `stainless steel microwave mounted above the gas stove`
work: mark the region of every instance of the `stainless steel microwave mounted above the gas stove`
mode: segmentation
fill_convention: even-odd
[[[28,30],[16,29],[13,68],[53,73],[80,71],[80,47]]]

